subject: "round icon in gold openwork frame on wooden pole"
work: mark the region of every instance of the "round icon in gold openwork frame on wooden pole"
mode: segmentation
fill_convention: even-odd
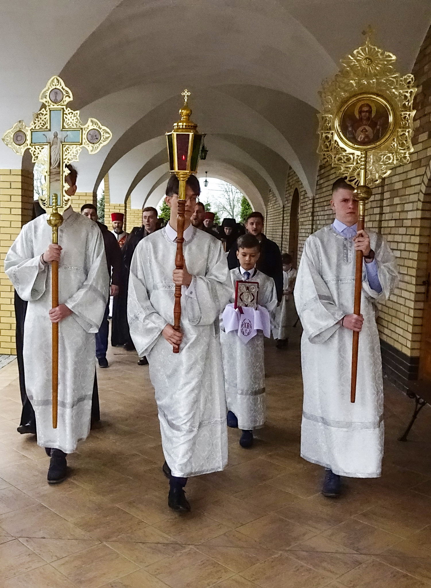
[[[322,163],[331,163],[354,186],[358,201],[358,230],[365,225],[365,205],[372,188],[413,151],[412,74],[395,71],[396,56],[367,38],[352,55],[343,58],[338,74],[323,82],[319,113],[319,148]],[[360,314],[362,251],[356,252],[355,302]],[[350,402],[355,402],[359,333],[353,332]]]

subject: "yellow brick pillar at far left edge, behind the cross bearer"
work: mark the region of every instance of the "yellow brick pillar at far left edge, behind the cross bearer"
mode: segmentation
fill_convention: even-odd
[[[32,206],[32,173],[0,169],[0,353],[16,353],[14,288],[4,273],[4,260],[22,225],[31,220]]]

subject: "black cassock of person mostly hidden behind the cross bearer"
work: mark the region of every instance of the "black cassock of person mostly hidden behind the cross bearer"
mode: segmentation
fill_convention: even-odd
[[[33,203],[33,215],[32,220],[36,216],[45,214],[44,209],[38,201]],[[16,345],[16,361],[18,363],[18,376],[19,376],[19,392],[21,392],[22,412],[21,422],[19,426],[27,425],[28,433],[36,433],[36,417],[34,409],[28,399],[27,392],[25,389],[25,376],[24,376],[24,321],[27,312],[26,300],[19,298],[16,290],[14,290],[14,306],[15,306],[15,345]],[[61,327],[60,327],[61,328]],[[99,409],[99,390],[97,385],[97,375],[94,372],[94,383],[93,383],[93,396],[91,402],[91,423],[101,420],[101,413]]]

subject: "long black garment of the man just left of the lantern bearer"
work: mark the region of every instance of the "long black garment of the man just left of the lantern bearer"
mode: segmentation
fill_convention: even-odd
[[[121,266],[121,285],[118,295],[113,299],[112,305],[112,328],[111,328],[111,345],[131,345],[133,341],[130,336],[129,323],[127,320],[127,296],[129,292],[129,273],[132,263],[133,253],[138,246],[139,241],[150,233],[146,232],[143,226],[134,226],[126,242],[122,246],[121,254],[123,263]]]

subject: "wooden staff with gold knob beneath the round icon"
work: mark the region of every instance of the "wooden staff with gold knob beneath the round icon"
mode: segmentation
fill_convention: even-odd
[[[360,186],[353,192],[358,200],[358,231],[365,228],[365,203],[371,196],[371,189],[366,185],[367,175],[367,152],[363,151],[360,155]],[[356,268],[355,268],[355,302],[353,303],[353,313],[360,315],[360,297],[362,293],[362,251],[356,251]],[[353,331],[352,342],[352,380],[350,382],[350,402],[356,400],[356,378],[358,376],[358,349],[359,349],[359,332]]]

